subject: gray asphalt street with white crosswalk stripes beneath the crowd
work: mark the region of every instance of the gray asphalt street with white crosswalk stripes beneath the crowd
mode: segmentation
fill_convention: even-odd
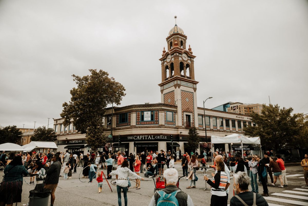
[[[182,176],[182,169],[180,164],[176,164],[175,168],[179,171],[179,175]],[[269,186],[270,197],[266,197],[270,206],[278,205],[302,205],[308,206],[308,188],[303,188],[305,180],[303,178],[303,170],[300,166],[289,166],[287,169],[288,187],[279,188],[279,181],[275,187]],[[107,185],[106,180],[103,181],[103,192],[98,193],[97,181],[93,179],[93,183],[83,183],[79,181],[79,173],[82,168],[77,168],[77,174],[73,174],[72,179],[63,180],[60,177],[59,184],[55,192],[55,206],[67,206],[67,205],[118,205],[116,187],[111,185],[110,188]],[[101,170],[99,170],[101,171]],[[103,170],[107,176],[107,170]],[[207,171],[207,175],[210,176],[212,169]],[[0,173],[3,175],[3,172]],[[144,174],[141,174],[144,177]],[[205,187],[205,181],[203,180],[203,173],[201,170],[197,171],[199,180],[197,181],[197,188],[186,189],[189,186],[190,180],[180,179],[179,187],[182,191],[191,196],[194,205],[210,205],[211,193],[209,190],[203,191]],[[86,181],[87,179],[80,180]],[[115,178],[115,177],[114,177]],[[269,179],[270,180],[270,179]],[[26,177],[26,181],[30,182],[30,177]],[[109,181],[110,183],[110,181]],[[134,183],[132,183],[134,186]],[[207,186],[209,187],[209,185]],[[250,186],[249,186],[250,187]],[[128,205],[148,205],[154,194],[154,181],[152,178],[144,178],[141,181],[141,189],[129,189],[128,190]],[[232,198],[233,178],[231,178],[229,200]],[[26,204],[29,200],[29,191],[34,189],[34,186],[27,185],[23,182],[22,203],[17,205]],[[262,185],[259,184],[259,193],[262,193]],[[50,201],[50,200],[49,200]],[[14,204],[15,205],[15,204]],[[122,205],[124,205],[124,198],[122,193]]]

